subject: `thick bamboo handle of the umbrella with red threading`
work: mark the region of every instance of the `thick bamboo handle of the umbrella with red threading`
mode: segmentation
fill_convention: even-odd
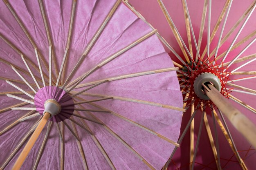
[[[237,108],[235,108],[227,98],[220,94],[211,84],[204,86],[204,92],[211,101],[225,114],[233,126],[256,148],[256,126]]]

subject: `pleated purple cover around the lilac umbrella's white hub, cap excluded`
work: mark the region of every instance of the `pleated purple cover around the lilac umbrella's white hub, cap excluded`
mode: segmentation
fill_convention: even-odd
[[[54,99],[61,105],[61,112],[49,119],[50,121],[60,122],[72,116],[74,112],[72,97],[63,89],[55,86],[45,86],[36,93],[34,102],[36,110],[39,111],[40,115],[43,115],[45,102],[49,99]]]

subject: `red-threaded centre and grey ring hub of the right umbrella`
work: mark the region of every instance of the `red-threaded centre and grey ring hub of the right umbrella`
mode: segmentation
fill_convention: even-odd
[[[179,77],[182,91],[185,94],[184,102],[187,102],[187,107],[191,103],[197,106],[203,103],[205,106],[213,105],[214,103],[204,93],[202,84],[212,84],[223,96],[228,97],[229,91],[226,89],[227,81],[229,81],[229,72],[225,66],[215,64],[215,60],[204,62],[192,61],[183,66]]]

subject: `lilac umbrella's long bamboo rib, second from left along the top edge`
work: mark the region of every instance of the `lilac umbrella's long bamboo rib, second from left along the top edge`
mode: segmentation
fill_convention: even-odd
[[[50,30],[49,30],[48,20],[47,20],[47,17],[45,15],[45,7],[43,5],[42,0],[38,0],[38,4],[39,4],[39,7],[40,7],[43,22],[44,22],[44,25],[45,25],[47,40],[48,40],[49,46],[52,46],[52,59],[53,59],[55,74],[56,74],[56,77],[58,77],[58,64],[57,64],[57,60],[56,60],[56,53],[55,53],[54,45],[52,43],[52,36],[51,36]]]

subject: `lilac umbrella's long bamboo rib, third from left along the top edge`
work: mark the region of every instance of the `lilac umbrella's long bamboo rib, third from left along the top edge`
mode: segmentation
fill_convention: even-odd
[[[67,60],[68,60],[68,55],[69,55],[69,48],[70,48],[70,41],[71,41],[71,35],[73,31],[73,26],[74,26],[74,15],[76,11],[76,0],[73,0],[72,2],[72,11],[71,11],[71,16],[70,16],[70,24],[69,24],[69,30],[68,30],[68,35],[67,35],[67,44],[66,44],[66,52],[63,58],[65,58],[64,61],[64,66],[63,66],[63,71],[61,72],[61,82],[64,81],[65,79],[65,68],[67,65]]]

